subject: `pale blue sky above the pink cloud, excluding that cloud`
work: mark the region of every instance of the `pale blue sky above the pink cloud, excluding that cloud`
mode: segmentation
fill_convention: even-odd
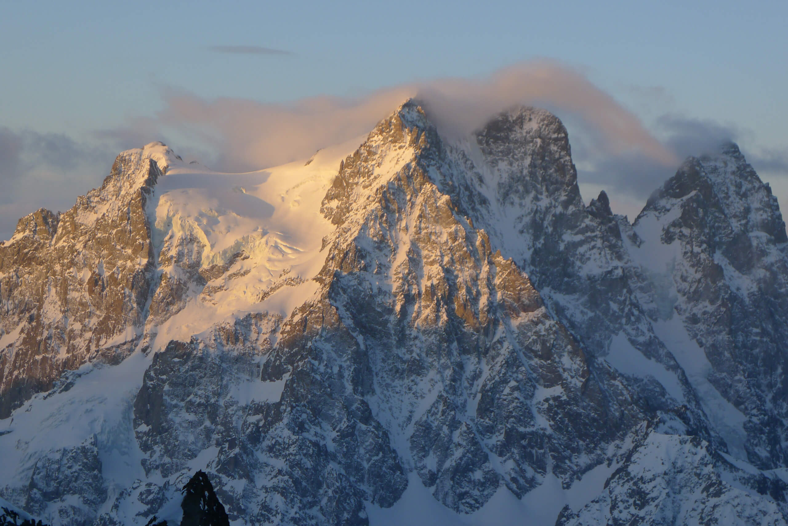
[[[0,198],[0,234],[13,229],[10,217],[39,206],[33,200],[65,209],[100,181],[117,153],[102,130],[154,117],[173,90],[269,104],[359,98],[546,58],[585,75],[656,136],[660,118],[671,115],[733,130],[753,159],[784,159],[786,27],[788,2],[6,0],[0,130],[12,139],[27,133],[28,150],[4,169],[0,144],[0,177],[14,181]],[[211,50],[217,46],[287,53]],[[46,137],[61,140],[55,152],[80,159],[65,167],[33,159]],[[778,188],[781,162],[762,165]],[[24,184],[39,180],[58,191]]]

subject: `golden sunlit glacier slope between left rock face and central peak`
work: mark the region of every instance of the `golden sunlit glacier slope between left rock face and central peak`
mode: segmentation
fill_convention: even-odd
[[[155,350],[253,311],[286,318],[314,294],[311,280],[325,260],[322,239],[333,229],[320,213],[321,201],[336,167],[361,141],[324,148],[308,163],[250,173],[171,164],[151,211],[160,267],[174,276],[184,263],[191,271],[208,270],[207,285],[188,293],[179,312],[149,329]],[[243,258],[233,261],[239,253]],[[227,265],[224,272],[210,273]]]

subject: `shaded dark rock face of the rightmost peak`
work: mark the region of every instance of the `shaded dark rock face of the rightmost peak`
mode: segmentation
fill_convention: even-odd
[[[672,278],[675,315],[706,360],[704,371],[682,366],[696,389],[732,406],[710,411],[732,427],[729,449],[758,468],[785,467],[788,238],[777,198],[727,144],[716,157],[688,159],[634,229],[675,253],[660,270]]]

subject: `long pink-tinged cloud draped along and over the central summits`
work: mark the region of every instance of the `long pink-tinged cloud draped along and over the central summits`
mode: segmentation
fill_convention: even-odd
[[[408,97],[424,101],[429,116],[450,134],[471,132],[501,110],[526,104],[578,123],[586,149],[601,157],[638,155],[664,166],[678,162],[634,114],[581,73],[553,62],[522,63],[485,79],[440,79],[363,97],[318,96],[291,104],[208,100],[167,90],[164,110],[117,134],[183,137],[211,151],[216,168],[253,170],[303,159],[318,148],[369,132]],[[178,149],[178,141],[171,142]]]

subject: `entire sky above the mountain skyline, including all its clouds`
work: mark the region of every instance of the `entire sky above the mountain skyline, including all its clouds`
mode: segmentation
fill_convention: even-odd
[[[128,147],[217,170],[308,157],[409,95],[445,126],[567,124],[584,199],[630,219],[738,142],[788,203],[786,2],[0,2],[0,239]]]

